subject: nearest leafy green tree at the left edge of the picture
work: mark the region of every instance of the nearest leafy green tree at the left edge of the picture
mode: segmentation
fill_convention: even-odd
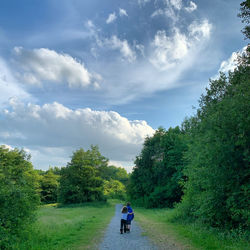
[[[11,249],[39,204],[38,175],[23,150],[0,147],[0,248]]]

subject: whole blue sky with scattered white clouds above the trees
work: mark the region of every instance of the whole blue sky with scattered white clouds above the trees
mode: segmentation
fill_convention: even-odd
[[[1,0],[0,145],[36,169],[98,145],[131,171],[246,45],[238,0]]]

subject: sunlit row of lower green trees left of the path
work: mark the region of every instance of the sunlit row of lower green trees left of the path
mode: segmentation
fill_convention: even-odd
[[[128,174],[108,165],[97,146],[72,155],[66,167],[36,170],[24,150],[0,146],[0,248],[11,249],[36,219],[40,204],[125,199]]]

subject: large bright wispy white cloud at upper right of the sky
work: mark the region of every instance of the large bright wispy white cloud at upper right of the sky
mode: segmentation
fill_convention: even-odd
[[[166,31],[157,31],[152,42],[153,53],[150,62],[159,70],[168,70],[180,63],[197,42],[209,38],[211,24],[204,20],[201,23],[193,22],[188,27],[188,34],[182,34],[177,28],[172,36]]]

